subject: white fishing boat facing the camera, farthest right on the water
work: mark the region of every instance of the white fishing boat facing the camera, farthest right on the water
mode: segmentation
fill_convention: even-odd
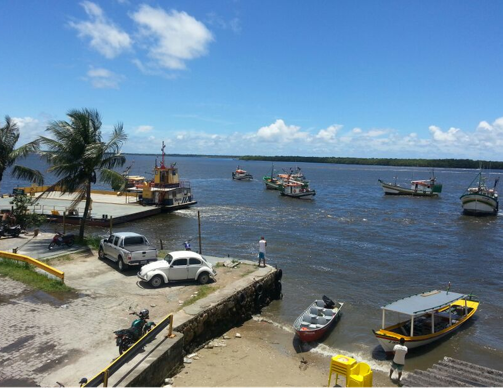
[[[479,171],[475,179],[471,182],[468,189],[460,197],[463,206],[463,212],[467,215],[484,216],[498,213],[499,200],[496,186],[499,178],[494,180],[494,186],[489,189],[486,185],[486,178]],[[477,184],[477,186],[474,186]]]

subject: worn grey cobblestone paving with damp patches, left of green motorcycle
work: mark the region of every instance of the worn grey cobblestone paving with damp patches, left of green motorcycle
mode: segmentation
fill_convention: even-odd
[[[117,322],[107,325],[103,312],[124,309],[123,304],[107,296],[67,295],[58,300],[0,277],[0,386],[6,380],[40,384],[52,369],[93,350],[97,339],[113,343]],[[56,381],[48,383],[56,386]]]

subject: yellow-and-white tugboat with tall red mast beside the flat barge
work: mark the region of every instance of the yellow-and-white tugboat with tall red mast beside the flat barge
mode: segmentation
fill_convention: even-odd
[[[161,165],[157,167],[157,161],[153,169],[154,178],[150,181],[144,181],[135,188],[128,189],[129,192],[138,193],[141,204],[147,206],[161,207],[163,210],[185,209],[197,203],[192,196],[190,182],[180,180],[178,177],[178,168],[176,163],[171,163],[166,167],[165,145],[163,142],[163,158]]]

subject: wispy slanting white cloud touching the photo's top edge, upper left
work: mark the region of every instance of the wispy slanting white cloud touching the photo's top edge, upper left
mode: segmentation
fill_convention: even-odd
[[[71,21],[69,25],[77,30],[80,38],[90,38],[93,49],[111,59],[131,47],[129,35],[109,20],[99,5],[89,1],[80,4],[89,19]]]

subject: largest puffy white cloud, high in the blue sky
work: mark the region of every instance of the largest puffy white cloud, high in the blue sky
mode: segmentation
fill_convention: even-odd
[[[207,54],[214,40],[202,22],[183,11],[166,12],[143,4],[130,16],[140,28],[148,56],[164,69],[185,69],[185,62]]]

